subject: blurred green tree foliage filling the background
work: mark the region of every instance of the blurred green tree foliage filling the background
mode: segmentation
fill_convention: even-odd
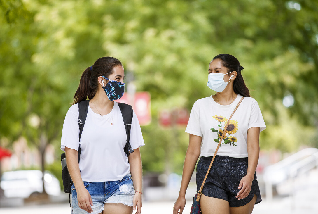
[[[208,64],[229,53],[265,118],[261,148],[317,145],[317,1],[0,0],[0,9],[0,138],[38,148],[59,139],[82,71],[114,56],[152,97],[145,169],[180,172],[187,135],[160,128],[158,112],[210,96]]]

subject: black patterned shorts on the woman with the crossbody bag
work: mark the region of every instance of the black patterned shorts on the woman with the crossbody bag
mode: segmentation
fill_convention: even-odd
[[[211,157],[201,157],[197,164],[197,191],[199,191],[206,172],[210,166]],[[240,207],[249,203],[254,195],[256,203],[262,201],[259,192],[256,173],[248,196],[238,200],[239,182],[247,174],[247,158],[232,158],[216,155],[210,173],[204,183],[202,193],[205,196],[220,198],[229,202],[230,207]]]

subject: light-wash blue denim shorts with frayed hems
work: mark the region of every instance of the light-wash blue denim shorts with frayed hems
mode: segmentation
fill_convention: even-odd
[[[131,175],[126,175],[119,181],[107,182],[86,182],[84,186],[93,200],[93,213],[98,214],[104,210],[105,203],[122,203],[130,207],[133,206],[135,195],[133,180]],[[87,212],[79,208],[77,194],[74,184],[72,186],[72,214],[84,214]]]

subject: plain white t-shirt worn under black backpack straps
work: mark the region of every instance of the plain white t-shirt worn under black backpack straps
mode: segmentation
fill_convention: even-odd
[[[65,147],[68,147],[78,151],[80,145],[79,169],[82,180],[118,181],[128,175],[130,165],[127,154],[124,153],[126,129],[118,104],[114,102],[113,110],[104,116],[94,113],[88,107],[80,142],[78,119],[79,107],[74,104],[65,116],[61,149],[65,151]],[[111,122],[113,125],[110,125]],[[131,122],[130,145],[133,149],[145,145],[135,112]]]

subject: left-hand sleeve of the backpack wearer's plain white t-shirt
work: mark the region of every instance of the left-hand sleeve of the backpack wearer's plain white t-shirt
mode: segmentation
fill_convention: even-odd
[[[77,107],[76,107],[77,106]],[[79,124],[78,105],[72,105],[67,111],[61,139],[61,149],[65,152],[65,147],[79,149]]]

